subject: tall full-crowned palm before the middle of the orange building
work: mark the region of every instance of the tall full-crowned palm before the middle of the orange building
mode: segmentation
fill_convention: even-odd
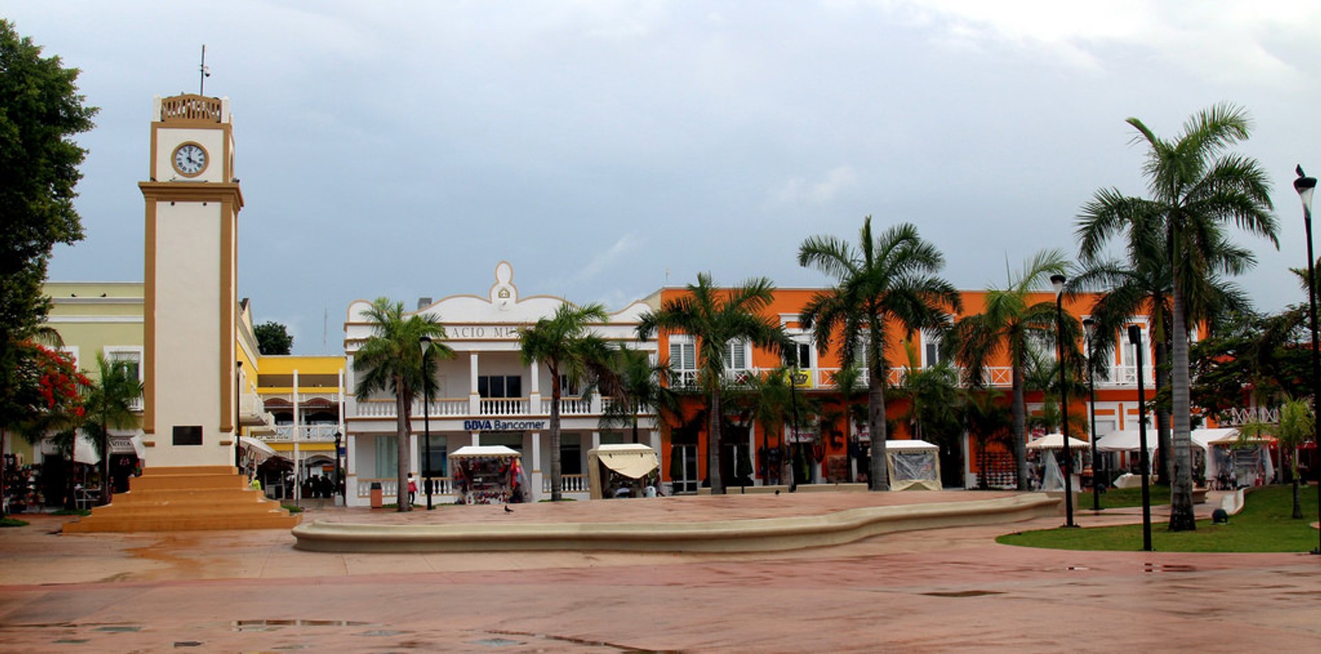
[[[798,264],[835,277],[803,307],[799,322],[816,328],[824,350],[839,333],[845,362],[861,358],[868,370],[868,431],[872,437],[871,490],[889,490],[885,468],[885,377],[889,336],[896,325],[908,333],[948,325],[963,304],[958,289],[937,276],[945,255],[922,240],[911,223],[872,234],[872,217],[863,221],[857,246],[828,235],[810,236],[798,248]],[[861,350],[861,351],[860,351]],[[857,357],[861,354],[861,357]]]

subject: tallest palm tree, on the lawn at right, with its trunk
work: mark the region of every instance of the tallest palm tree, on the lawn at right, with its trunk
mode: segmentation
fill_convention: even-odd
[[[1174,140],[1157,137],[1136,118],[1129,118],[1128,124],[1149,148],[1143,173],[1151,197],[1129,198],[1118,189],[1098,192],[1096,209],[1079,218],[1079,250],[1094,256],[1112,235],[1131,231],[1135,222],[1159,225],[1174,280],[1170,291],[1174,484],[1169,528],[1196,530],[1189,457],[1188,321],[1207,313],[1205,280],[1215,273],[1235,275],[1251,263],[1221,254],[1230,244],[1223,234],[1227,225],[1266,236],[1279,247],[1271,215],[1271,185],[1256,160],[1226,152],[1230,145],[1246,140],[1251,129],[1251,119],[1239,107],[1217,104],[1197,112],[1184,123],[1184,131]]]

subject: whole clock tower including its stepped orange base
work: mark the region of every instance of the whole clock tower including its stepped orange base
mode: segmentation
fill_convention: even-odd
[[[81,531],[289,528],[248,488],[238,447],[238,217],[230,100],[156,98],[152,110],[143,303],[143,476]]]

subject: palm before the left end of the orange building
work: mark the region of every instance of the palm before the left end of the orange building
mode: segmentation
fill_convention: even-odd
[[[789,346],[783,326],[764,312],[774,297],[775,287],[766,277],[745,281],[732,289],[716,288],[711,273],[699,272],[697,283],[687,293],[662,303],[660,309],[642,314],[638,338],[647,340],[659,329],[679,332],[696,338],[699,382],[709,394],[707,414],[707,474],[711,493],[724,494],[720,478],[720,390],[725,377],[725,350],[744,341],[779,351]]]

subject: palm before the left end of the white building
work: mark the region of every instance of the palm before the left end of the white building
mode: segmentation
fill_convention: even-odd
[[[444,357],[450,350],[437,342],[445,338],[445,328],[433,314],[413,314],[404,317],[404,303],[378,297],[366,312],[374,324],[371,337],[353,355],[353,370],[358,375],[358,400],[366,400],[373,392],[384,391],[395,396],[395,437],[398,439],[399,469],[398,506],[399,511],[411,511],[408,502],[408,470],[411,452],[408,433],[412,418],[412,402],[424,387],[435,384],[435,370],[423,366],[420,341],[432,338],[431,350]],[[429,353],[428,353],[429,354]]]

